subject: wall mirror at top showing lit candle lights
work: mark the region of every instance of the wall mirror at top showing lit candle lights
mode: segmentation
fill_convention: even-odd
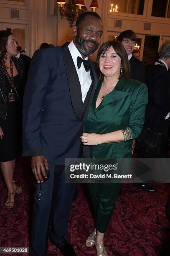
[[[131,13],[143,15],[145,0],[111,0],[110,13]]]

